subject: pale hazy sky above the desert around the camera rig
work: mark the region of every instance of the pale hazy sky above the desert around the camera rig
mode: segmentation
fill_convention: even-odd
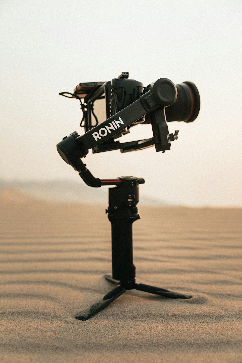
[[[161,77],[194,82],[200,114],[168,124],[180,133],[164,154],[89,151],[94,176],[145,178],[140,203],[145,194],[242,205],[241,19],[240,0],[1,0],[0,178],[83,183],[56,151],[64,136],[82,132],[79,102],[58,93],[128,71],[144,85]],[[151,136],[150,125],[139,125],[125,138]]]

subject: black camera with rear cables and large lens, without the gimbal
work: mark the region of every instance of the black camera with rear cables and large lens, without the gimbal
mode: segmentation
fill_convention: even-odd
[[[112,117],[112,115],[117,114],[119,111],[131,105],[131,103],[137,101],[143,94],[148,92],[150,87],[151,85],[144,87],[143,83],[129,78],[128,72],[122,72],[119,77],[113,78],[111,81],[79,83],[75,87],[73,93],[61,92],[60,95],[80,100],[81,110],[83,112],[80,126],[84,127],[85,132],[88,132],[100,125],[106,119]],[[197,87],[192,82],[183,82],[175,87],[177,90],[177,97],[174,103],[169,105],[169,107],[167,107],[168,105],[161,105],[160,107],[161,109],[166,107],[165,123],[171,121],[194,121],[200,110],[200,95]],[[163,85],[163,93],[169,93],[169,91],[171,91],[170,88],[170,85]],[[168,93],[165,96],[168,97]],[[161,114],[162,113],[160,113],[160,115]],[[115,140],[128,134],[131,127],[137,124],[147,123],[152,124],[152,115],[150,113],[140,117],[131,125],[122,128],[122,130],[120,130],[121,122],[118,125],[114,123],[113,127],[118,132],[108,138],[108,140],[103,140],[101,145],[94,146],[93,153],[116,149],[120,149],[121,152],[140,149],[141,147],[137,147],[137,145],[130,143],[120,144],[119,141],[117,142]],[[107,132],[109,130],[110,129],[107,129]],[[106,131],[101,130],[101,133],[95,134],[94,137],[100,140],[104,134],[106,134]],[[141,145],[139,144],[139,146]],[[143,146],[145,147],[145,144]],[[160,148],[156,147],[156,151],[161,151],[161,149],[162,146]]]

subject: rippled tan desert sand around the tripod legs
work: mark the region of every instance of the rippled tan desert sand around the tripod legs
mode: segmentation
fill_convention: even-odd
[[[0,362],[242,362],[242,209],[140,205],[137,282],[193,298],[129,290],[79,321],[115,286],[104,209],[2,200]]]

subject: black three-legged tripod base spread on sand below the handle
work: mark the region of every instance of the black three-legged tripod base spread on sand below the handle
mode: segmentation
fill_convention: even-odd
[[[93,305],[91,305],[88,309],[83,310],[79,315],[75,318],[79,320],[88,320],[97,314],[100,310],[102,310],[105,306],[109,305],[112,301],[122,295],[126,290],[140,290],[145,291],[147,293],[161,295],[173,299],[190,299],[192,295],[177,293],[176,291],[171,291],[167,289],[161,289],[160,287],[138,284],[134,281],[124,281],[120,282],[115,280],[110,275],[104,275],[104,277],[111,282],[115,282],[116,284],[120,284],[112,289],[109,293],[107,293],[101,300],[97,301]]]

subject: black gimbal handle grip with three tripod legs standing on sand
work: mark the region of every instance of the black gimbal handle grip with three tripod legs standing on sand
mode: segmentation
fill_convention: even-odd
[[[101,300],[81,311],[75,318],[88,320],[110,304],[126,290],[140,290],[173,299],[190,299],[192,295],[181,294],[160,287],[138,284],[135,282],[135,265],[133,263],[132,224],[140,219],[137,204],[139,202],[139,184],[144,179],[125,176],[113,180],[101,180],[101,185],[116,185],[109,188],[109,206],[106,209],[112,231],[112,276],[104,277],[115,284]]]

